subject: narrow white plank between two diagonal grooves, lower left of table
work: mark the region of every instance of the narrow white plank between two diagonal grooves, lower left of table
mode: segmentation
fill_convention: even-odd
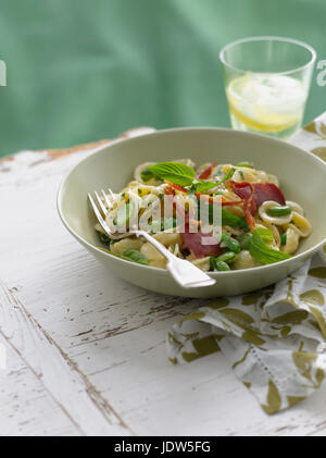
[[[0,282],[0,334],[83,434],[131,434],[108,399]]]

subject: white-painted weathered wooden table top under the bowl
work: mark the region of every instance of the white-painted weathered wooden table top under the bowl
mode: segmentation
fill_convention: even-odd
[[[326,386],[267,417],[222,355],[172,366],[198,302],[108,275],[63,228],[58,187],[98,145],[0,161],[0,435],[326,435]]]

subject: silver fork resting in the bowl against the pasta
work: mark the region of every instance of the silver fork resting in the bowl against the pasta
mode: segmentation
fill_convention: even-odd
[[[108,190],[110,196],[113,196],[111,189]],[[167,260],[166,268],[170,271],[173,278],[184,288],[199,288],[203,286],[212,286],[216,283],[214,278],[211,278],[205,272],[198,269],[191,262],[177,258],[171,251],[168,251],[162,244],[160,244],[154,237],[148,234],[146,231],[135,230],[129,231],[125,234],[112,233],[109,225],[106,224],[105,216],[108,214],[108,209],[104,205],[104,201],[108,208],[111,208],[111,202],[108,198],[108,195],[104,190],[101,191],[102,197],[99,193],[95,191],[95,198],[91,194],[88,194],[88,199],[92,207],[92,210],[96,214],[96,218],[101,225],[102,230],[108,234],[112,239],[122,239],[135,235],[137,238],[145,238],[149,242],[156,250],[164,256]],[[97,203],[96,203],[97,201]],[[103,218],[104,216],[104,218]]]

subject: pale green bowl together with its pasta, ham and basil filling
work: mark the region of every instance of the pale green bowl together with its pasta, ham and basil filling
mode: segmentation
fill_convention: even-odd
[[[249,293],[293,273],[325,245],[326,164],[290,144],[224,128],[161,131],[101,148],[64,180],[60,216],[105,268],[174,296]],[[102,195],[111,238],[89,207]],[[216,280],[184,289],[131,228]]]

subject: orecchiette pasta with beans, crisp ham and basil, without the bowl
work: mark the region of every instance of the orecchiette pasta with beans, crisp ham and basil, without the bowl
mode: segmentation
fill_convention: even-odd
[[[166,268],[164,256],[136,238],[135,228],[206,272],[288,259],[312,232],[303,208],[286,200],[277,176],[246,161],[196,170],[190,159],[147,162],[134,176],[102,200],[110,233],[96,226],[101,243],[123,259]]]

